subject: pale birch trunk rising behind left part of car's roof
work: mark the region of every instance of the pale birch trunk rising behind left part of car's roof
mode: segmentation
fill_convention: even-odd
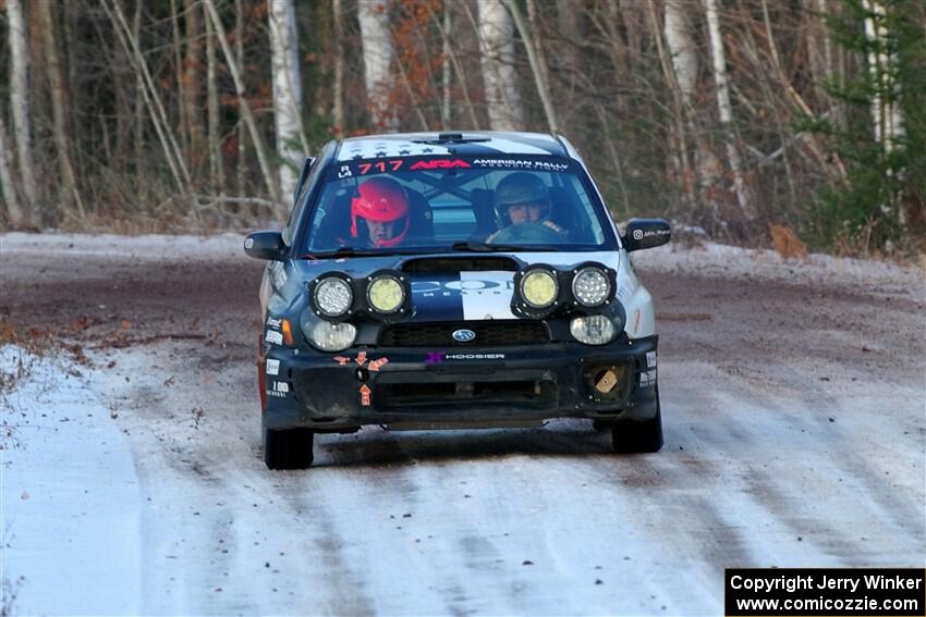
[[[399,116],[391,100],[389,65],[393,52],[387,8],[386,0],[357,0],[369,123],[375,131],[394,133],[399,129]]]

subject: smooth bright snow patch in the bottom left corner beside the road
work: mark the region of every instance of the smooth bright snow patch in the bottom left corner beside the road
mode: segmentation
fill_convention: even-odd
[[[0,372],[22,374],[0,393],[4,607],[138,613],[138,478],[127,440],[90,390],[92,369],[5,345]]]

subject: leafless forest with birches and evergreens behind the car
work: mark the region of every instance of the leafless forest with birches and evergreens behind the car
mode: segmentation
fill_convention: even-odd
[[[621,221],[926,251],[924,0],[0,8],[2,230],[272,225],[332,138],[516,129],[570,138]]]

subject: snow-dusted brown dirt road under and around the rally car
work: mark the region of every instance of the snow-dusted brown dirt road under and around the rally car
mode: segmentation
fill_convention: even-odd
[[[2,347],[29,370],[2,403],[15,614],[718,615],[727,566],[926,562],[918,270],[643,251],[660,453],[581,421],[367,429],[272,472],[240,238],[13,234],[0,257],[0,318],[89,358]]]

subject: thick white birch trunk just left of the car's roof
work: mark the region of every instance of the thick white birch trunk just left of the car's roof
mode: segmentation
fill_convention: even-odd
[[[277,129],[277,153],[280,193],[289,199],[298,182],[298,169],[308,155],[302,136],[302,77],[298,65],[298,39],[293,0],[268,0],[270,49],[273,72],[273,121]],[[303,144],[302,151],[297,144]]]

